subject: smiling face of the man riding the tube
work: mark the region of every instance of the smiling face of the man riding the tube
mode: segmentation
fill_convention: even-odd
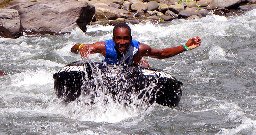
[[[113,37],[113,41],[120,53],[126,53],[131,42],[129,30],[127,28],[117,28],[115,31],[115,37]]]

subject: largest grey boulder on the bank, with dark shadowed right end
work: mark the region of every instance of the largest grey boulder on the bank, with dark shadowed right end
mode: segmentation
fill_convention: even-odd
[[[85,1],[54,0],[42,2],[10,2],[4,7],[18,10],[26,35],[63,34],[78,27],[86,31],[95,7]]]

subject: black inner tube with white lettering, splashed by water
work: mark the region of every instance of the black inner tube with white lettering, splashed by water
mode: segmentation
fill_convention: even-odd
[[[103,83],[95,83],[99,74]],[[182,96],[182,82],[156,68],[76,61],[63,67],[53,78],[57,97],[65,102],[75,101],[88,90],[96,91],[97,85],[102,85],[116,102],[125,100],[129,104],[133,102],[131,95],[135,95],[148,105],[156,102],[175,106]]]

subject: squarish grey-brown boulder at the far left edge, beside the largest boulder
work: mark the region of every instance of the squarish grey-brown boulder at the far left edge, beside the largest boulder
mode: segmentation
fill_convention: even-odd
[[[0,37],[19,38],[20,36],[22,36],[22,30],[18,11],[0,9]]]

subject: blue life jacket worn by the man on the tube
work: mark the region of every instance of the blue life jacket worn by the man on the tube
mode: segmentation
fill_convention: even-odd
[[[128,47],[127,52],[119,59],[117,59],[116,46],[112,39],[105,41],[106,46],[106,56],[105,62],[108,64],[127,64],[132,65],[132,59],[134,54],[136,54],[140,47],[140,42],[132,40]]]

